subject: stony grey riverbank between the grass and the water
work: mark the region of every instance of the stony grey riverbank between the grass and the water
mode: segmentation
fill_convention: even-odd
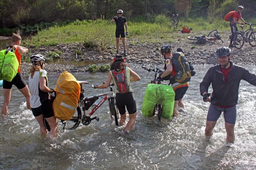
[[[181,34],[181,33],[180,33]],[[195,35],[196,33],[190,35]],[[229,42],[228,36],[229,32],[222,35],[224,43],[220,40],[211,41],[206,44],[197,44],[195,41],[188,40],[189,34],[183,34],[179,36],[180,38],[175,40],[175,42],[164,42],[164,43],[139,43],[134,39],[126,39],[127,54],[126,62],[135,63],[144,66],[154,66],[159,64],[163,65],[163,56],[160,53],[160,49],[163,45],[170,44],[172,46],[172,51],[176,51],[177,48],[182,48],[187,60],[194,65],[201,64],[217,64],[217,58],[215,57],[215,51],[218,47],[228,46]],[[130,43],[132,42],[132,43]],[[135,43],[134,43],[135,42]],[[47,63],[46,70],[49,74],[61,73],[64,70],[68,72],[85,72],[88,69],[89,63],[102,63],[108,64],[113,60],[115,47],[108,49],[105,52],[99,52],[96,48],[86,49],[81,43],[68,43],[60,44],[50,47],[40,47],[36,49],[34,46],[28,47],[31,50],[31,54],[41,54],[48,56],[49,52],[61,51],[60,58],[63,59],[61,64],[58,63]],[[77,50],[81,53],[77,54]],[[119,50],[123,52],[123,50]],[[72,61],[79,61],[79,65],[73,65]],[[233,63],[241,65],[256,65],[256,47],[252,47],[249,43],[245,43],[242,49],[232,49],[232,59]],[[71,63],[71,64],[70,64]],[[29,73],[31,68],[31,63],[23,62],[21,65],[22,74],[26,75]]]

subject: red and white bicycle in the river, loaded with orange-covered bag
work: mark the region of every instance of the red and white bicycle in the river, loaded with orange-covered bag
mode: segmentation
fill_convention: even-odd
[[[93,115],[94,112],[96,112],[97,109],[99,109],[99,107],[107,99],[108,99],[108,106],[110,109],[111,120],[114,119],[116,126],[118,126],[118,119],[120,118],[120,116],[119,116],[119,111],[116,108],[116,97],[115,97],[115,93],[113,91],[114,84],[112,83],[109,85],[109,88],[110,88],[109,92],[101,93],[101,94],[93,95],[93,96],[88,96],[86,98],[84,98],[84,94],[83,94],[84,89],[82,88],[82,85],[88,84],[88,82],[79,81],[79,84],[81,86],[81,93],[80,93],[80,97],[79,97],[79,101],[78,101],[78,106],[76,108],[76,112],[74,113],[73,117],[68,121],[59,120],[58,127],[60,127],[60,128],[58,128],[58,129],[60,129],[60,130],[75,130],[77,127],[79,127],[79,124],[81,121],[82,121],[82,124],[85,126],[89,125],[91,123],[91,121],[94,119],[96,121],[99,121],[98,117],[95,116],[95,117],[91,118],[91,116]],[[103,98],[102,96],[105,96],[105,97]],[[102,100],[97,102],[99,97],[102,97]],[[91,112],[88,115],[86,115],[86,110],[88,110],[89,108],[91,108]],[[83,115],[82,115],[81,110],[83,111]],[[47,130],[50,131],[49,124],[45,118],[44,118],[44,125],[47,128]]]

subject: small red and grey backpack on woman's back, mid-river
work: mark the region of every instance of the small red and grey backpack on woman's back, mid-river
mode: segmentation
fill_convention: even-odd
[[[113,78],[115,80],[118,92],[120,94],[124,94],[130,91],[130,86],[128,85],[128,82],[126,80],[126,69],[127,67],[125,67],[125,69],[122,69],[122,71],[118,73],[116,73],[115,70],[111,71]]]

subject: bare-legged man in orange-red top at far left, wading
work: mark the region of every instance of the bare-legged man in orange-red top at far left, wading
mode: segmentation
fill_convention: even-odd
[[[17,60],[19,61],[19,68],[17,75],[12,79],[11,82],[3,80],[3,106],[2,106],[2,115],[7,115],[7,108],[10,103],[11,93],[12,93],[12,85],[15,85],[20,92],[26,98],[26,105],[28,109],[30,108],[30,93],[29,87],[27,86],[26,82],[23,80],[22,75],[20,74],[20,63],[21,63],[21,55],[28,52],[28,49],[20,46],[21,37],[19,34],[12,34],[12,52],[15,53]]]

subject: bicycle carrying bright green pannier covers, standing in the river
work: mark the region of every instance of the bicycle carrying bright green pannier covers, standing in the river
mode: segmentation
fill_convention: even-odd
[[[151,84],[161,84],[161,80],[157,80],[157,73],[160,73],[161,70],[159,69],[159,66],[157,66],[156,69],[150,69],[150,68],[146,68],[146,67],[143,67],[143,69],[147,70],[148,71],[148,74],[149,72],[153,71],[154,72],[154,79],[151,80]],[[148,79],[151,79],[151,76],[150,75],[148,77],[148,75],[146,76]],[[160,104],[156,104],[156,106],[154,107],[154,111],[153,111],[153,116],[154,115],[157,115],[158,116],[158,120],[161,121],[161,115],[162,115],[162,106]]]

